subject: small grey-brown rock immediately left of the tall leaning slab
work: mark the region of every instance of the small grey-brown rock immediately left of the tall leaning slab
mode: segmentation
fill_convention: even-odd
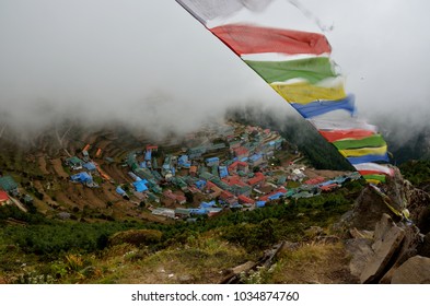
[[[351,260],[349,261],[349,271],[356,278],[359,278],[364,270],[365,264],[373,257],[372,240],[368,238],[348,239],[345,248]]]

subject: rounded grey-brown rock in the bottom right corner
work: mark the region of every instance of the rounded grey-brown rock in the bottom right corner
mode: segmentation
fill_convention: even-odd
[[[409,258],[393,273],[392,284],[430,284],[430,258]]]

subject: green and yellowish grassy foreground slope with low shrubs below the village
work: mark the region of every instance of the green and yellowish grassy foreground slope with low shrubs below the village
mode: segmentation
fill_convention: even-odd
[[[306,234],[311,226],[322,226],[332,234],[330,225],[352,207],[360,189],[359,183],[351,183],[346,188],[321,197],[251,212],[226,212],[194,224],[61,223],[44,220],[38,214],[30,215],[33,220],[28,220],[25,219],[28,215],[15,212],[12,216],[23,219],[28,225],[16,226],[3,221],[0,278],[7,282],[24,283],[217,283],[226,269],[256,260],[264,249],[279,240],[303,243],[304,246],[313,244],[314,237]],[[8,217],[4,210],[1,213],[3,219]],[[37,222],[39,224],[30,225]],[[161,231],[163,237],[148,246],[125,244],[105,247],[107,236],[128,228],[153,228]],[[321,261],[303,257],[310,252],[306,248],[304,255],[294,256],[299,259],[303,257],[298,263],[290,259],[291,255],[281,255],[276,273],[267,276],[266,282],[304,282],[299,279],[299,272],[292,279],[282,279],[282,271],[300,271],[300,264],[304,264],[302,269],[305,269],[306,260],[321,262],[313,267],[329,267],[330,256],[342,257],[340,246],[332,248],[323,244],[319,248],[327,250]],[[318,249],[316,254],[323,255]],[[317,278],[302,276],[314,282],[348,280],[341,273],[340,278],[326,278],[327,273],[341,270],[334,269],[315,270],[321,275]]]

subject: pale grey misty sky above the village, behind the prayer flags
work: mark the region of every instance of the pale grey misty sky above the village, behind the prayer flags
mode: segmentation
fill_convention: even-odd
[[[364,116],[430,115],[430,1],[300,3],[334,26],[333,59]],[[318,32],[287,0],[268,10]],[[174,0],[0,0],[0,123],[47,125],[61,113],[186,131],[235,104],[292,111]]]

